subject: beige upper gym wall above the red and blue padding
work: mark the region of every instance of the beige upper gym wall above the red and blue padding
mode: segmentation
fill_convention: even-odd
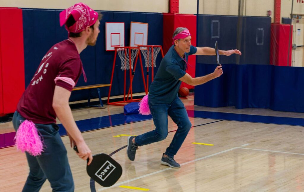
[[[275,0],[244,0],[244,15],[266,16],[267,10],[274,15]],[[75,3],[84,2],[96,10],[168,12],[169,0],[0,0],[0,7],[65,9]],[[237,15],[239,0],[199,0],[199,14]],[[292,0],[281,0],[281,17],[290,17]],[[197,0],[179,0],[179,12],[196,14]],[[304,3],[294,0],[295,14],[304,14]],[[272,19],[273,21],[273,19]]]

